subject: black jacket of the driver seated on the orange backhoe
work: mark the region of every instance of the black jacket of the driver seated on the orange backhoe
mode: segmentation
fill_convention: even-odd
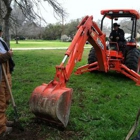
[[[113,42],[125,41],[124,31],[120,28],[118,28],[118,30],[112,30],[109,37],[111,37],[111,36],[113,36],[113,38],[111,39],[111,41],[113,41]],[[116,40],[116,37],[119,37],[119,40]]]

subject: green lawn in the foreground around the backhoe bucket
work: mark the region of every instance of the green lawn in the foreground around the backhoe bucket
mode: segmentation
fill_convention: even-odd
[[[87,63],[88,52],[86,49],[74,70]],[[53,80],[55,65],[60,64],[64,53],[65,50],[14,51],[12,90],[26,129],[34,117],[28,104],[31,93],[35,87]],[[124,140],[139,109],[140,87],[116,72],[72,74],[67,87],[74,90],[68,126],[61,131],[44,124],[35,125],[42,140]],[[14,116],[12,108],[8,116]]]

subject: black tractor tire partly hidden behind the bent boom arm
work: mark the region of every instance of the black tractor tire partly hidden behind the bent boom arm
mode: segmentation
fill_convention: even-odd
[[[92,47],[88,55],[88,64],[94,63],[96,61],[97,61],[96,53],[94,48]]]

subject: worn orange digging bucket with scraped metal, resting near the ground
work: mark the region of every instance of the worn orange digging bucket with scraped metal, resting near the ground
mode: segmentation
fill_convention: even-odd
[[[61,87],[57,81],[42,84],[34,89],[29,105],[38,117],[67,126],[73,89]]]

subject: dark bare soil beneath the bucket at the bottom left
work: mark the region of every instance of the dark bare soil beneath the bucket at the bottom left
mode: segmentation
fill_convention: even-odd
[[[43,121],[33,120],[28,125],[22,127],[14,126],[11,134],[0,137],[0,140],[72,140],[73,137],[82,136],[82,132],[66,130],[66,128]]]

